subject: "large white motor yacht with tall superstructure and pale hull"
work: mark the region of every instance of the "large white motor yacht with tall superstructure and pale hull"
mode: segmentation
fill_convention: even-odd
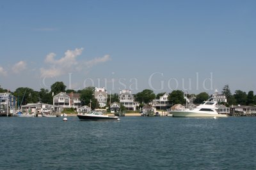
[[[216,111],[216,104],[216,102],[204,101],[193,110],[177,110],[170,111],[170,113],[173,117],[227,117],[227,115]]]

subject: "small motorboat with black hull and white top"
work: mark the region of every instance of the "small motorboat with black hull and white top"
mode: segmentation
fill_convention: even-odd
[[[86,121],[116,121],[120,120],[118,117],[110,117],[108,115],[104,115],[102,112],[91,111],[90,113],[84,113],[83,115],[77,115],[80,120]]]

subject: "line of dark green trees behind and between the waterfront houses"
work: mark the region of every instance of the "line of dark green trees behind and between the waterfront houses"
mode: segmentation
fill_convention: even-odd
[[[40,91],[35,91],[29,87],[19,87],[12,93],[13,96],[16,97],[17,106],[25,105],[28,103],[45,103],[45,104],[52,104],[53,96],[59,94],[60,92],[66,92],[67,94],[70,92],[79,93],[82,105],[91,105],[92,108],[99,108],[99,103],[97,99],[94,98],[95,87],[86,87],[83,90],[72,90],[67,89],[67,86],[62,81],[56,81],[51,85],[51,90],[48,89],[40,89]],[[3,89],[0,85],[0,92],[7,92],[7,89]],[[159,94],[154,94],[153,90],[145,89],[137,94],[134,94],[134,99],[140,106],[144,104],[148,104],[152,102],[154,99],[159,99],[159,97],[163,96],[166,92],[161,92]],[[228,85],[225,85],[222,89],[222,94],[227,97],[227,103],[220,103],[225,104],[225,106],[230,106],[232,104],[241,104],[241,105],[250,105],[253,106],[256,104],[256,96],[254,95],[253,91],[249,91],[248,94],[243,92],[242,90],[236,90],[234,94],[230,92],[230,88]],[[168,95],[168,101],[171,105],[174,104],[185,104],[186,99],[184,99],[184,92],[182,90],[173,90]],[[188,98],[193,98],[193,103],[199,104],[203,101],[209,99],[209,94],[206,92],[201,92],[200,94],[187,94]],[[113,102],[119,102],[119,95],[118,94],[108,94],[108,101],[109,104]]]

